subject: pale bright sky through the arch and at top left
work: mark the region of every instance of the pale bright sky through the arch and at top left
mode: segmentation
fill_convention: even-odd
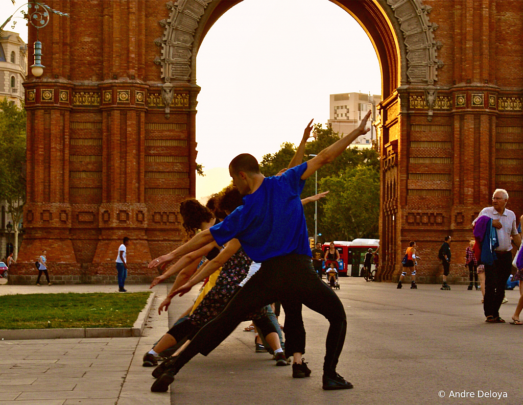
[[[0,20],[22,1],[2,0]],[[25,20],[14,31],[27,41]],[[198,199],[229,184],[227,167],[237,154],[261,160],[283,142],[298,144],[311,118],[327,122],[329,94],[381,94],[370,39],[328,0],[244,0],[232,7],[203,40],[196,80],[197,162],[207,174],[197,176]]]

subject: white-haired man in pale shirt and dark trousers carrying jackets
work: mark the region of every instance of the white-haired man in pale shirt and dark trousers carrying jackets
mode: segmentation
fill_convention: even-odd
[[[516,215],[506,209],[508,193],[502,188],[497,188],[492,195],[492,207],[483,208],[477,218],[487,216],[492,218],[492,226],[497,229],[499,246],[496,248],[496,260],[492,265],[485,264],[485,297],[483,310],[485,322],[504,323],[499,317],[499,307],[505,297],[505,284],[512,272],[512,242],[517,246],[521,244],[521,237],[516,228]],[[477,221],[477,218],[472,224]]]

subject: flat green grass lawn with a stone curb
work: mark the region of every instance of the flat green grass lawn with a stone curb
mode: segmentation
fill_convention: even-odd
[[[0,296],[0,329],[131,328],[151,293]]]

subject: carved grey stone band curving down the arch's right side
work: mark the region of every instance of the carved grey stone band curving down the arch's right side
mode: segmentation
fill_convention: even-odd
[[[437,68],[444,63],[437,59],[441,42],[434,40],[438,25],[430,22],[430,6],[420,0],[386,0],[403,33],[407,51],[407,79],[411,84],[434,85]],[[430,116],[430,115],[429,115]]]

